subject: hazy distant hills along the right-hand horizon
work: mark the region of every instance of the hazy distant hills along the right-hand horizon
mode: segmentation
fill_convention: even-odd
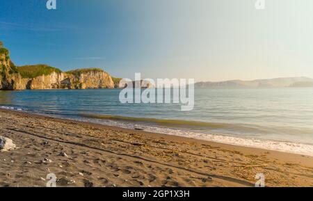
[[[313,87],[313,79],[309,77],[286,77],[275,79],[256,79],[252,81],[230,80],[217,82],[198,82],[195,88],[286,88]]]

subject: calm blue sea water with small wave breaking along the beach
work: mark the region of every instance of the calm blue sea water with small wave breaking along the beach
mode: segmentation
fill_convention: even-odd
[[[0,91],[0,107],[313,155],[313,88],[195,89],[195,107],[186,112],[179,104],[121,104],[119,93]]]

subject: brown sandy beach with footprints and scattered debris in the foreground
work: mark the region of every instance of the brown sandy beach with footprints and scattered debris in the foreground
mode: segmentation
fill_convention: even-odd
[[[313,157],[0,110],[0,186],[313,186]]]

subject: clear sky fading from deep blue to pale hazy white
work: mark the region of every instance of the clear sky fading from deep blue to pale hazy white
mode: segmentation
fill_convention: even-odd
[[[0,0],[15,65],[101,67],[113,77],[313,78],[313,1]]]

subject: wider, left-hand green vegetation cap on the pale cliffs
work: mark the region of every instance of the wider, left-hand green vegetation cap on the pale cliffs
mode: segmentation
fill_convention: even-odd
[[[38,65],[24,65],[17,67],[17,72],[21,74],[23,78],[35,78],[42,75],[49,75],[53,72],[61,73],[62,71],[56,67],[49,65],[38,64]]]

